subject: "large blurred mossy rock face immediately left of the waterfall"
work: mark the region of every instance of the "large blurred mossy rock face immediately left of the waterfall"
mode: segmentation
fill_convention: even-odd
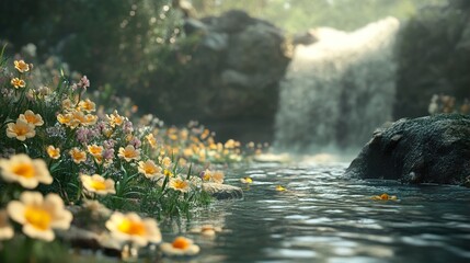
[[[176,50],[186,54],[180,70],[184,78],[171,81],[171,88],[156,84],[150,96],[158,98],[158,103],[146,110],[158,111],[176,124],[198,119],[213,127],[210,122],[266,122],[262,129],[254,130],[266,137],[263,141],[271,140],[278,83],[290,61],[284,32],[243,11],[186,19],[184,31],[191,39],[186,44],[190,48]],[[160,82],[168,76],[154,78]],[[215,132],[222,140],[240,134]]]

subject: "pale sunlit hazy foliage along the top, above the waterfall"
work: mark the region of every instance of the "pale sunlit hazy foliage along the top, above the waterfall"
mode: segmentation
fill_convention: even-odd
[[[446,2],[447,0],[192,1],[198,11],[198,16],[217,15],[230,9],[241,9],[253,16],[271,21],[289,33],[298,33],[317,26],[352,31],[388,15],[400,20],[408,19],[415,14],[421,7]]]

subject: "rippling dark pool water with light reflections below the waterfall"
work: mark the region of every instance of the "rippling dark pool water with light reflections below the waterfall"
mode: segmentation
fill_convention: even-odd
[[[470,262],[469,190],[347,181],[345,168],[264,163],[233,171],[228,183],[244,187],[244,199],[215,203],[183,227],[223,228],[214,238],[187,233],[202,248],[193,261]],[[242,185],[248,175],[253,183]],[[382,193],[399,201],[370,199]]]

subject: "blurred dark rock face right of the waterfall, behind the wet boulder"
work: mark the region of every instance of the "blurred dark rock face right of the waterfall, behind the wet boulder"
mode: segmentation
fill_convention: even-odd
[[[434,94],[470,98],[470,1],[422,9],[397,39],[393,117],[428,114]]]

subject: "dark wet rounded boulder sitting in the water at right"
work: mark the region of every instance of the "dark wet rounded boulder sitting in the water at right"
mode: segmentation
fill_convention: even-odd
[[[374,134],[345,175],[465,184],[470,175],[470,117],[442,114],[400,119]]]

